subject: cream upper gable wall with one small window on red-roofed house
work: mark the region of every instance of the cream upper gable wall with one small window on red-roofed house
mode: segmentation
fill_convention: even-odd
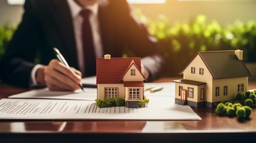
[[[135,69],[135,75],[131,75],[131,69]],[[124,75],[124,81],[143,81],[144,77],[134,64],[129,68],[127,73]]]

